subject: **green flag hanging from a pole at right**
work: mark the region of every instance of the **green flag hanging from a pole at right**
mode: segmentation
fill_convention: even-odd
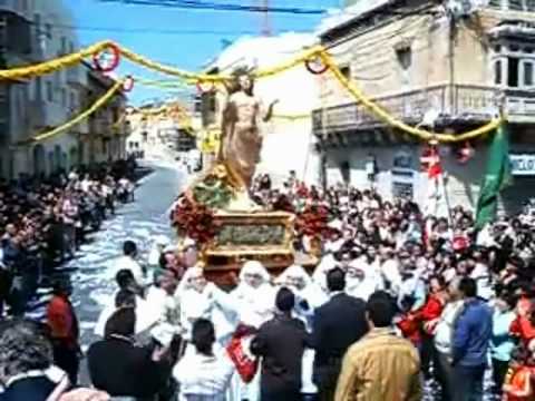
[[[509,139],[507,123],[502,124],[490,145],[487,172],[481,183],[476,209],[476,228],[493,222],[498,208],[498,194],[513,183],[509,163]]]

